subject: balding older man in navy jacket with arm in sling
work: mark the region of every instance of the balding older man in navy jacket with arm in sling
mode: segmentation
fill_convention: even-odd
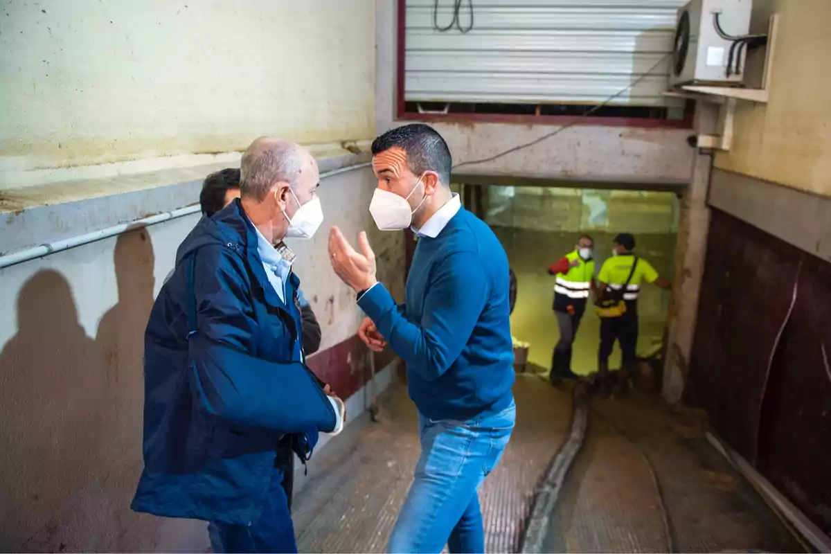
[[[305,365],[283,243],[322,223],[317,185],[306,150],[255,140],[241,198],[184,239],[145,331],[145,468],[132,508],[213,522],[214,552],[297,552],[278,444],[305,460],[318,431],[342,429],[342,401]]]

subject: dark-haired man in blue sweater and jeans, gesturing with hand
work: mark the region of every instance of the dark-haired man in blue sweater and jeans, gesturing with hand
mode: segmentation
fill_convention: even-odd
[[[428,125],[405,125],[372,143],[378,187],[370,204],[381,230],[419,238],[398,305],[376,280],[361,233],[356,252],[332,228],[332,267],[368,316],[359,335],[406,362],[419,410],[421,456],[388,552],[484,552],[477,489],[508,444],[516,406],[508,258],[490,228],[450,191],[452,159]]]

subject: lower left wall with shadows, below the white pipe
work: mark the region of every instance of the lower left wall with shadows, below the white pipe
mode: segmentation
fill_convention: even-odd
[[[372,231],[366,208],[374,186],[368,169],[324,179],[323,209],[347,237],[371,231],[381,281],[401,297],[403,233]],[[129,508],[142,467],[143,332],[175,249],[197,220],[179,218],[0,269],[0,550],[207,547],[204,524]],[[332,273],[325,228],[292,246],[326,355],[354,341],[361,313],[354,292]],[[340,364],[334,369],[349,369]],[[353,418],[362,401],[351,404]]]

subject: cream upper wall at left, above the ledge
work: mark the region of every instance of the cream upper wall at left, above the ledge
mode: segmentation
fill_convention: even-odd
[[[3,171],[374,131],[369,0],[2,3]]]

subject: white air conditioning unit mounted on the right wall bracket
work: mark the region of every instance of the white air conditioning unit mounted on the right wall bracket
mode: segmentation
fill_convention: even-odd
[[[678,10],[670,86],[740,85],[753,0],[691,0]]]

